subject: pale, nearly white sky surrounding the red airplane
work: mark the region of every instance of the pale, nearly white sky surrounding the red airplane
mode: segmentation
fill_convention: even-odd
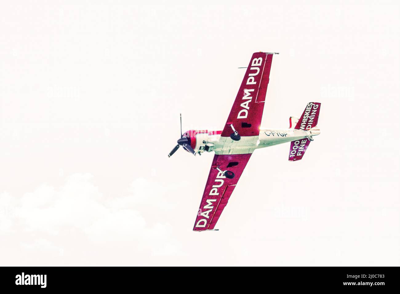
[[[399,5],[183,3],[2,4],[0,265],[399,266]],[[262,126],[314,101],[322,133],[192,232],[213,155],[167,158],[179,113],[221,130],[257,51]]]

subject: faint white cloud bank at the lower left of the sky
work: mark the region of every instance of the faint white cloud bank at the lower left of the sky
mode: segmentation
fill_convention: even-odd
[[[134,180],[127,195],[112,197],[99,191],[91,174],[73,174],[59,187],[42,184],[19,198],[3,192],[0,236],[13,240],[8,246],[31,254],[50,250],[57,258],[93,248],[130,248],[139,259],[184,254],[171,224],[142,214],[150,188],[152,195],[161,195],[160,201],[151,201],[155,207],[168,205],[161,201],[162,187],[144,178]]]

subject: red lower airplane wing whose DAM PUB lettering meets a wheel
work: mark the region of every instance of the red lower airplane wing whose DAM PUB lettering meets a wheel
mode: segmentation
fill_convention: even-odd
[[[222,210],[228,204],[229,197],[236,187],[250,156],[251,153],[214,155],[206,188],[200,202],[196,222],[194,223],[194,231],[214,229]],[[230,170],[235,174],[234,178],[226,178],[215,166],[219,166],[223,172]]]

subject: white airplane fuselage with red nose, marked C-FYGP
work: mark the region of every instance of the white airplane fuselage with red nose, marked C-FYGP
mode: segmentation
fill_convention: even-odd
[[[196,153],[216,152],[216,154],[245,154],[252,153],[258,148],[270,147],[286,142],[310,138],[320,134],[319,129],[263,129],[258,136],[241,137],[234,141],[230,137],[221,137],[221,131],[196,131],[185,132],[184,136],[190,138],[191,146]]]

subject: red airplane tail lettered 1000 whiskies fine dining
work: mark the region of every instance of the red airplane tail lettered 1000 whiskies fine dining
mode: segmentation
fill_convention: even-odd
[[[290,117],[290,128],[293,128],[296,122],[295,130],[309,131],[310,134],[307,138],[292,141],[290,143],[289,160],[296,161],[301,160],[306,153],[308,145],[313,140],[312,136],[320,134],[320,129],[316,128],[318,123],[318,117],[320,115],[321,103],[319,102],[309,102],[304,109],[303,115],[295,120],[294,117]]]

